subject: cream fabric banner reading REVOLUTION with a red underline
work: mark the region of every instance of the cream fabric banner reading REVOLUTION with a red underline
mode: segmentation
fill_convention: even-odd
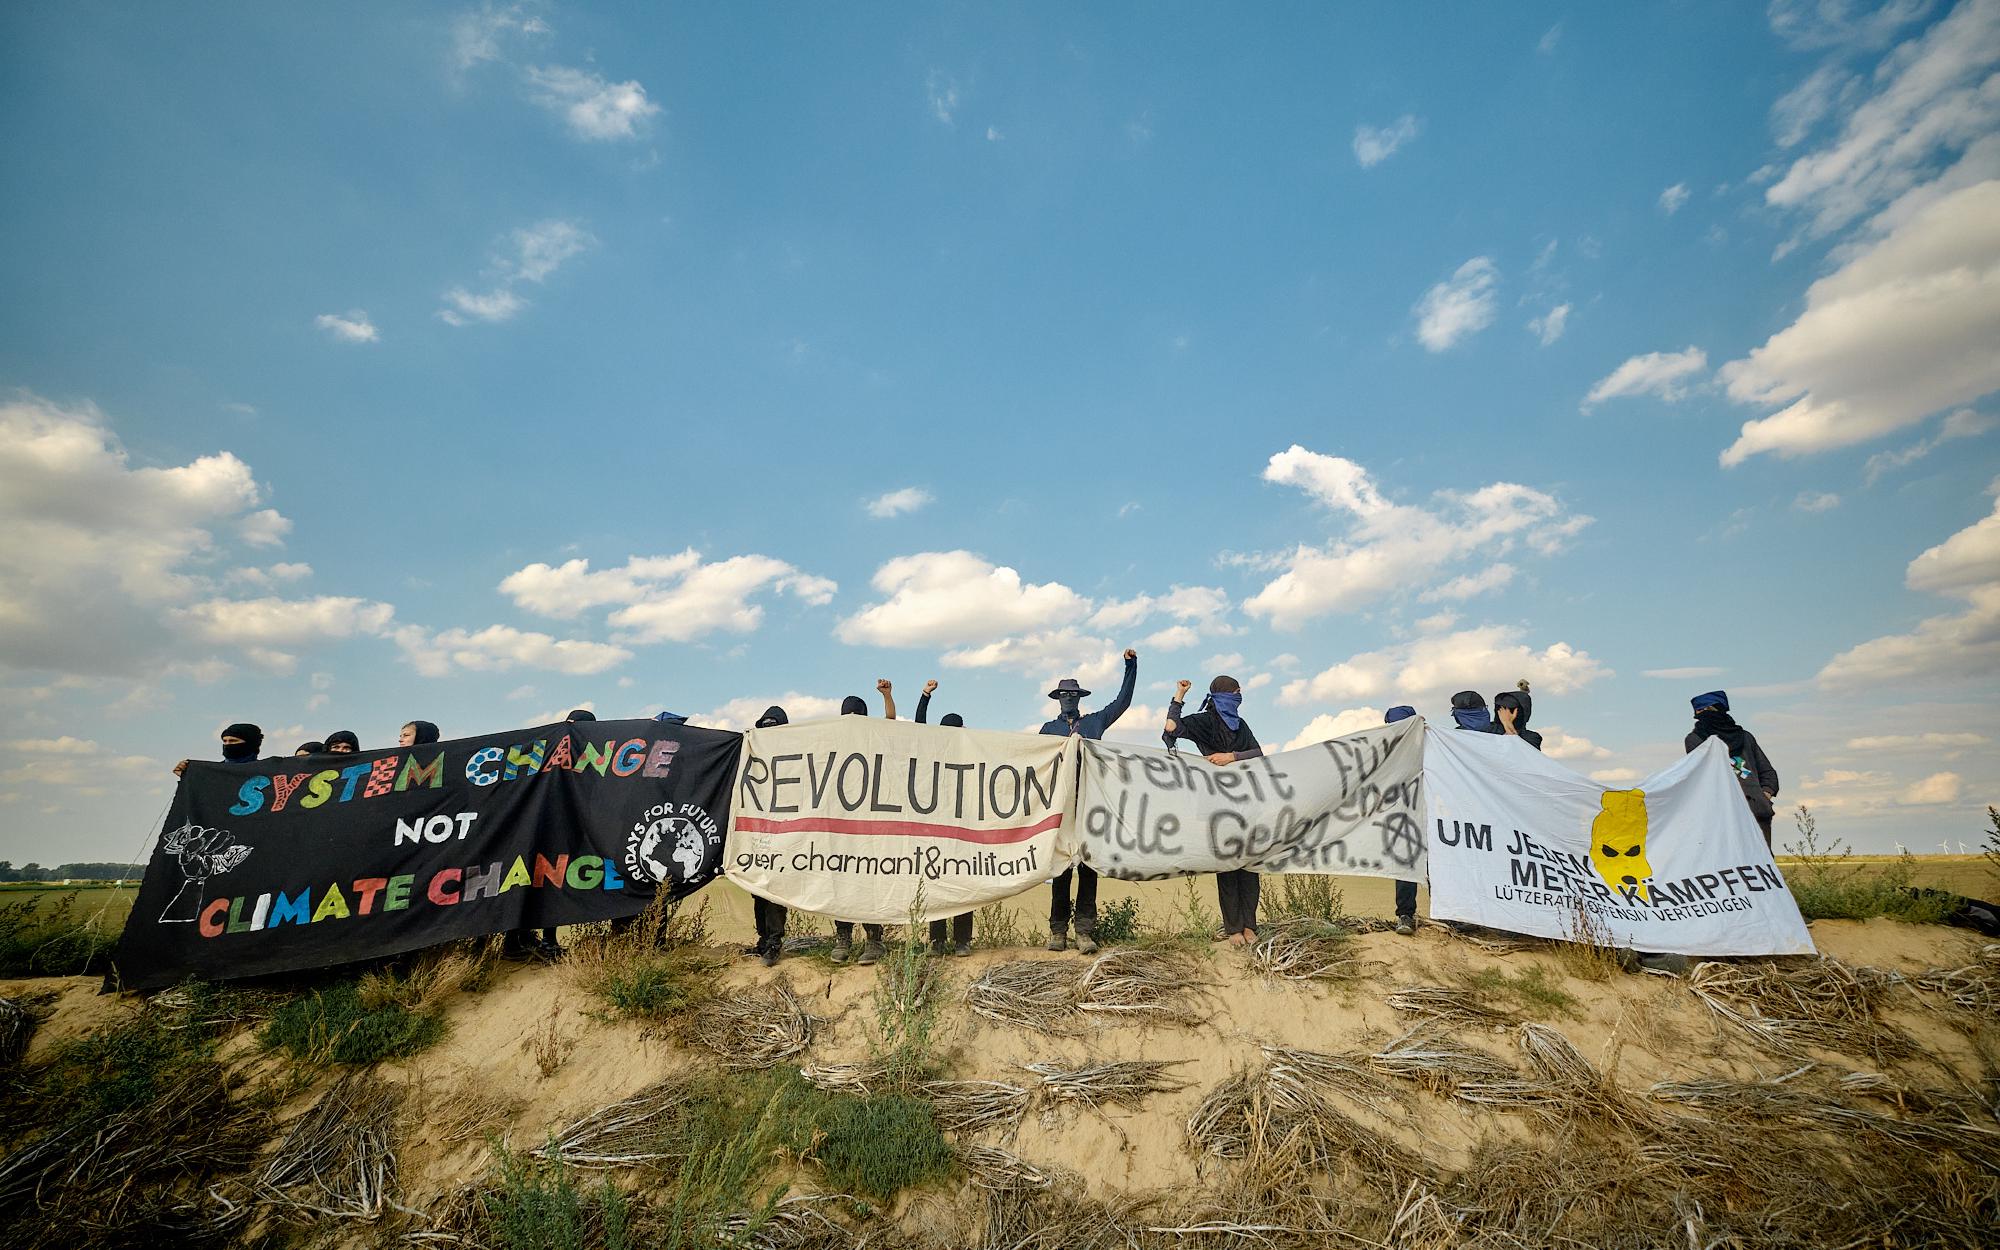
[[[868,716],[750,730],[724,866],[834,920],[956,916],[1076,860],[1076,758],[1070,738]]]

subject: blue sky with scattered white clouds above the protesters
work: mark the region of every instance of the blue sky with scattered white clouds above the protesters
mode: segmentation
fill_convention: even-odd
[[[2000,2],[0,14],[0,858],[168,766],[1138,646],[2000,802]]]

